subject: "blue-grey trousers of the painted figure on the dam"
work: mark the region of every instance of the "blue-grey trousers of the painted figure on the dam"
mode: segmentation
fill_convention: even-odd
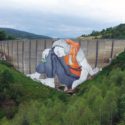
[[[70,67],[64,62],[64,57],[58,57],[53,52],[53,49],[49,51],[46,62],[41,62],[36,67],[38,73],[44,73],[48,78],[54,78],[54,76],[57,75],[60,83],[71,88],[72,83],[79,79],[79,77],[72,74],[69,69]]]

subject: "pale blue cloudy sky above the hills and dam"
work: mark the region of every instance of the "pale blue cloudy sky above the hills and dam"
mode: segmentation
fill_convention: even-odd
[[[0,0],[0,27],[72,38],[125,23],[124,0]]]

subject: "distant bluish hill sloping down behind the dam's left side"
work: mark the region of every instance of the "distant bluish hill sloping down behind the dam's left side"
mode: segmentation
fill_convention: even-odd
[[[50,37],[48,36],[36,35],[33,33],[11,29],[11,28],[0,28],[0,31],[4,31],[8,36],[13,36],[18,39],[50,39]]]

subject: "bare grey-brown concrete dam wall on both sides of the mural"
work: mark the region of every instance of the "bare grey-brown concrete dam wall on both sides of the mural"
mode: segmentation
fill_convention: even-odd
[[[51,48],[52,39],[0,41],[0,51],[10,57],[9,62],[19,71],[35,72],[42,51]],[[125,40],[98,39],[78,41],[92,67],[104,67],[117,54],[125,50]]]

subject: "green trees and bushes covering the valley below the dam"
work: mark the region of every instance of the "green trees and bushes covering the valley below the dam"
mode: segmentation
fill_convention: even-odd
[[[125,52],[75,95],[32,81],[0,62],[0,125],[125,125]]]

